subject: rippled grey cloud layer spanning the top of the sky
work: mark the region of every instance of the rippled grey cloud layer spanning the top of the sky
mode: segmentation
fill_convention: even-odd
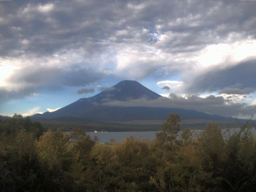
[[[236,40],[236,33],[256,34],[255,4],[241,1],[31,0],[1,3],[0,10],[4,56],[42,56],[77,47],[97,55],[127,43],[191,52]]]

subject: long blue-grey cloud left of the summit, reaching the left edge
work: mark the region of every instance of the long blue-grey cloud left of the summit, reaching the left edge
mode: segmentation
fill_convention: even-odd
[[[12,91],[1,88],[1,100],[23,98],[36,92],[40,88],[51,91],[59,90],[64,86],[85,86],[104,77],[90,69],[77,66],[68,68],[32,66],[15,70],[8,78],[13,84]]]

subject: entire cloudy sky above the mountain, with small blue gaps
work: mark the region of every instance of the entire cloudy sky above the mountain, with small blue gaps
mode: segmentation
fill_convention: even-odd
[[[136,80],[165,96],[111,102],[256,113],[256,1],[0,1],[0,115],[52,112]]]

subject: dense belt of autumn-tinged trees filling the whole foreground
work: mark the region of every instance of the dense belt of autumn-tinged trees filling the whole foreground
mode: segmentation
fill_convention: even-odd
[[[83,130],[67,135],[15,114],[0,120],[0,187],[12,191],[10,176],[2,182],[12,172],[17,192],[256,190],[250,121],[235,134],[208,124],[196,138],[186,129],[178,139],[180,130],[180,117],[170,114],[153,141],[102,144]]]

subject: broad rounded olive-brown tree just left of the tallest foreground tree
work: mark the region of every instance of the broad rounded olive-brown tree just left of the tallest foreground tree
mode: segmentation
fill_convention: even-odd
[[[119,191],[156,191],[149,181],[158,163],[155,156],[150,154],[148,142],[130,136],[116,148],[116,154],[120,165],[117,183]]]

